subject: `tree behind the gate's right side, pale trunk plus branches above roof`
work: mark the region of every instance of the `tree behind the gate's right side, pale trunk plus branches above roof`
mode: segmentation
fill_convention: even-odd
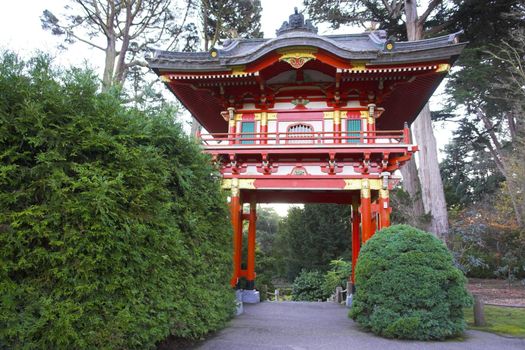
[[[327,21],[334,27],[377,22],[391,35],[410,41],[440,32],[451,14],[451,6],[447,6],[450,4],[443,0],[431,0],[423,8],[416,0],[305,0],[304,3],[313,20]],[[412,160],[402,170],[404,188],[414,203],[414,214],[430,213],[429,229],[443,237],[448,232],[448,215],[428,104],[412,124],[412,131],[420,145],[419,177]]]

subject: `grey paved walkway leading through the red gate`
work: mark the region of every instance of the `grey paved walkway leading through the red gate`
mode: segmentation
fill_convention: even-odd
[[[388,340],[360,330],[334,303],[264,302],[244,306],[244,314],[214,337],[201,343],[203,350],[277,349],[525,349],[525,339],[468,331],[464,340],[416,342]]]

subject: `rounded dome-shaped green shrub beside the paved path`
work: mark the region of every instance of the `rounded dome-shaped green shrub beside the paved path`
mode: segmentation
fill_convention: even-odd
[[[361,249],[350,316],[387,338],[445,339],[465,329],[466,278],[444,244],[406,225],[377,232]]]

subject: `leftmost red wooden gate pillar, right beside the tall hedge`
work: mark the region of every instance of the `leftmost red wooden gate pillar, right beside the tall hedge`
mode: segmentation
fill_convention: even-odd
[[[239,179],[232,179],[231,188],[231,220],[233,228],[233,274],[230,280],[232,287],[239,282],[242,259],[242,204],[239,192]]]

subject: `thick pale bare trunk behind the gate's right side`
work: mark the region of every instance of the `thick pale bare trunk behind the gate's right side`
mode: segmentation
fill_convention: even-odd
[[[405,0],[405,15],[408,40],[420,40],[423,37],[423,23],[418,18],[416,0]],[[440,238],[446,238],[449,229],[447,205],[439,172],[436,138],[432,130],[428,103],[412,124],[412,130],[419,145],[419,181],[423,206],[425,212],[432,216],[429,230]],[[417,180],[410,178],[410,181]],[[413,184],[412,186],[416,185]],[[414,208],[414,212],[416,212],[416,208]]]

